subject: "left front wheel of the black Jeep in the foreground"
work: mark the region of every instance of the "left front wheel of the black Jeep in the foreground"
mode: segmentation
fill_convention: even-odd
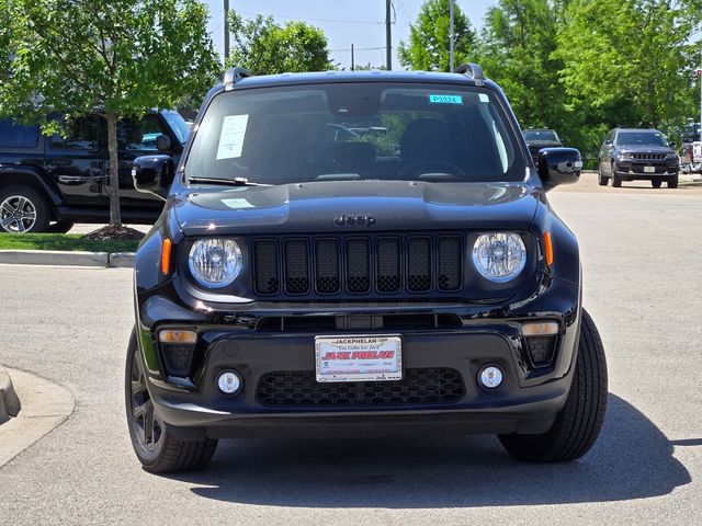
[[[206,466],[215,454],[217,441],[178,441],[168,434],[147,389],[136,331],[129,338],[124,380],[129,437],[144,469],[151,473],[170,473]]]

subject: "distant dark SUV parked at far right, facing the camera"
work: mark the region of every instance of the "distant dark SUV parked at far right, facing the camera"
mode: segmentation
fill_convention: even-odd
[[[604,137],[598,157],[598,182],[602,186],[612,180],[620,187],[622,181],[650,181],[654,188],[665,182],[678,187],[679,159],[676,150],[657,129],[614,128]]]

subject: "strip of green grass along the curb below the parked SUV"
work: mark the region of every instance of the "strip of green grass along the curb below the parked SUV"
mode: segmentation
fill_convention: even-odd
[[[138,241],[80,239],[78,233],[0,233],[0,250],[134,252]]]

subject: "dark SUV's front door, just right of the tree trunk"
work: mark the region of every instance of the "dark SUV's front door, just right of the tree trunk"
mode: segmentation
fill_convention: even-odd
[[[123,118],[117,123],[120,203],[123,210],[140,217],[141,214],[144,217],[157,215],[163,206],[163,202],[156,196],[137,192],[132,179],[132,165],[137,157],[173,153],[158,150],[156,140],[159,135],[170,136],[158,114],[148,114],[141,118]]]

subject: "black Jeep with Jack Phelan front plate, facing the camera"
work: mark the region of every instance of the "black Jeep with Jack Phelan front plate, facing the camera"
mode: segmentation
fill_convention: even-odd
[[[330,128],[384,128],[337,140]],[[455,73],[327,72],[215,87],[136,256],[125,390],[154,472],[217,439],[497,433],[528,461],[570,460],[604,416],[602,343],[578,243],[500,89]]]

